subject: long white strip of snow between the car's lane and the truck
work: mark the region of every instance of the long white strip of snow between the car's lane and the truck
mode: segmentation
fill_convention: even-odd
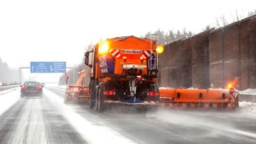
[[[44,89],[44,94],[50,99],[50,102],[70,121],[70,123],[77,129],[77,131],[85,138],[89,143],[135,143],[132,140],[125,138],[117,131],[112,130],[104,123],[99,121],[100,126],[90,123],[85,118],[80,116],[72,109],[72,107],[63,103],[58,95],[50,92],[48,89]]]

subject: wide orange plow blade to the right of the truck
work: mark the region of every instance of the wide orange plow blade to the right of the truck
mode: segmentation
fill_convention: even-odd
[[[239,106],[236,89],[161,89],[162,107],[171,109],[235,110]]]

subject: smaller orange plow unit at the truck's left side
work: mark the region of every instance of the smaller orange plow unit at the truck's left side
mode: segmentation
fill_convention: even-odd
[[[65,102],[88,102],[89,86],[70,85],[65,91]]]

